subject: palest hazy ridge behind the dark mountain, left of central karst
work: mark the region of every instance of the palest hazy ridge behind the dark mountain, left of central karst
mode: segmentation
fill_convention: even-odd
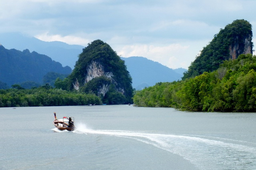
[[[36,51],[37,53],[47,55],[54,61],[60,62],[63,66],[68,65],[72,69],[74,69],[78,55],[84,48],[82,45],[69,45],[64,42],[44,42],[15,32],[0,34],[0,43],[6,49],[14,48],[20,51],[24,49]]]

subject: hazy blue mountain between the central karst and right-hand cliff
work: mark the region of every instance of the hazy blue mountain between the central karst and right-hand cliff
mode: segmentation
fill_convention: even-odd
[[[132,87],[136,90],[153,86],[159,82],[172,82],[181,80],[186,69],[170,69],[158,62],[145,57],[121,57],[125,61],[127,70],[132,77]]]

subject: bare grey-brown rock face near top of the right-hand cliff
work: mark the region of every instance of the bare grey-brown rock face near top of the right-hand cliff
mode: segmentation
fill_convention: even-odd
[[[229,54],[232,60],[237,59],[240,54],[252,54],[252,34],[245,37],[242,43],[238,43],[238,37],[236,37],[236,43],[229,46]]]

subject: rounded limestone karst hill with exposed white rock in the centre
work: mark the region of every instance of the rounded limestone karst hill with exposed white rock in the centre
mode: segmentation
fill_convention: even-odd
[[[74,89],[94,93],[109,104],[132,102],[132,78],[124,61],[101,40],[89,43],[70,75]]]

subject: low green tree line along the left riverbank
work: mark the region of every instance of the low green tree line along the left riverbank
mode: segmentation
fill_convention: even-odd
[[[102,101],[94,94],[53,89],[48,84],[33,89],[24,89],[20,85],[13,85],[12,89],[0,89],[0,107],[75,106],[89,104],[101,105]]]

